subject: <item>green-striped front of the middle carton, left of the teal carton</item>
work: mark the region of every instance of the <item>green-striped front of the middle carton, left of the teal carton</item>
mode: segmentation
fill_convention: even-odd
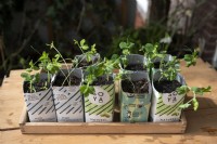
[[[115,86],[94,87],[95,93],[85,97],[86,122],[111,122],[113,120]]]

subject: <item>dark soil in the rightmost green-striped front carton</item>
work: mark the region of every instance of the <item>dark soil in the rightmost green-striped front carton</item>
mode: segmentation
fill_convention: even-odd
[[[162,80],[155,81],[154,87],[161,93],[170,93],[175,91],[178,87],[181,87],[181,83],[177,80]]]

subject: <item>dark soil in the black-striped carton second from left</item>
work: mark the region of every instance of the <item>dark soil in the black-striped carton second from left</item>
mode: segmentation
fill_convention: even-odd
[[[81,82],[81,78],[78,78],[76,76],[68,77],[68,80],[65,80],[65,82],[64,82],[64,80],[65,80],[64,76],[58,75],[53,82],[53,86],[59,86],[59,87],[61,87],[61,86],[79,86]],[[71,83],[68,83],[68,82],[71,82]]]

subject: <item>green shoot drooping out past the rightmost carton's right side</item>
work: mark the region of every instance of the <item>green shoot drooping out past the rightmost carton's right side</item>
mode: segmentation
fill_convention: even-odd
[[[180,108],[188,108],[193,104],[193,109],[196,110],[199,108],[199,102],[196,100],[196,95],[204,95],[206,92],[210,92],[210,87],[206,88],[197,88],[197,87],[188,87],[188,86],[181,86],[180,88],[177,88],[178,94],[187,94],[188,92],[193,92],[193,97],[188,101],[187,103],[180,105]]]

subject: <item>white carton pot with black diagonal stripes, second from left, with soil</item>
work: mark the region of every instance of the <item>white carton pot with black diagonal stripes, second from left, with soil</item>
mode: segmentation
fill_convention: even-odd
[[[61,69],[53,82],[58,121],[84,121],[82,94],[79,91],[82,73],[79,68]]]

